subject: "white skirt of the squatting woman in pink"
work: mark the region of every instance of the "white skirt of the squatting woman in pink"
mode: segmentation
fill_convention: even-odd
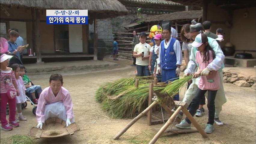
[[[73,118],[70,119],[71,123],[75,122],[75,118],[74,118],[74,113],[72,113]],[[67,115],[66,115],[66,108],[63,104],[62,101],[58,101],[56,103],[53,104],[47,104],[44,106],[44,118],[45,120],[49,119],[49,118],[59,118],[59,119],[63,119],[64,121],[67,120]]]

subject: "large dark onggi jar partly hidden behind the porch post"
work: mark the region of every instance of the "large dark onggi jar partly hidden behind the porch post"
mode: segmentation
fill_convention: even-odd
[[[94,52],[93,46],[94,46],[94,40],[90,40],[89,41],[89,54],[93,54],[93,52]],[[103,39],[98,39],[97,48],[98,48],[98,54],[97,54],[98,60],[103,60],[105,52],[106,52],[106,44]]]

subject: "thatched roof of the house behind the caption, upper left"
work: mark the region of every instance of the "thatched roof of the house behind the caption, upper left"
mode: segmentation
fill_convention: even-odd
[[[84,9],[97,19],[125,15],[128,10],[117,0],[1,0],[1,5],[41,9]]]

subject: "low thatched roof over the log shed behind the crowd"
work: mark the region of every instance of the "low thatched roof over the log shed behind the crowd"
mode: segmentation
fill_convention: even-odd
[[[190,11],[179,11],[175,13],[169,14],[161,14],[154,15],[150,17],[146,17],[144,19],[145,22],[153,22],[153,21],[162,21],[162,20],[172,20],[182,21],[182,20],[190,20],[190,19],[199,19],[203,16],[203,10],[190,10]]]

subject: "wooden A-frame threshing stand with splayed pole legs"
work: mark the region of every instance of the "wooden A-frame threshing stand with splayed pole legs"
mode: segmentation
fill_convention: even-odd
[[[136,83],[137,83],[137,86],[139,84],[138,81],[135,82],[135,86],[136,86]],[[152,93],[152,96],[153,96],[153,83],[150,84],[150,95]],[[157,97],[166,97],[166,96],[169,96],[167,93],[165,94],[160,94],[159,92],[155,91],[154,92],[155,95],[157,95]],[[152,100],[152,99],[151,99]],[[190,120],[190,122],[195,126],[195,128],[199,131],[199,133],[204,137],[204,138],[207,138],[207,134],[205,133],[205,131],[200,127],[200,125],[197,123],[197,121],[193,118],[193,116],[191,116],[191,114],[187,111],[187,103],[186,102],[181,102],[181,101],[173,101],[172,98],[169,98],[168,99],[168,102],[167,102],[170,107],[176,107],[176,111],[174,113],[172,113],[172,115],[170,116],[170,118],[168,119],[168,121],[163,125],[162,128],[160,128],[160,130],[157,132],[157,134],[154,136],[154,138],[149,142],[149,144],[154,144],[158,138],[166,131],[166,129],[169,127],[169,125],[171,125],[176,116],[178,115],[178,112],[182,111],[186,116],[187,118]],[[169,111],[168,107],[166,106],[167,105],[166,102],[163,102],[163,104],[161,105],[163,108],[166,108],[166,111],[168,113],[172,112],[171,110]],[[157,105],[157,101],[154,101],[152,104],[150,104],[142,113],[140,113],[138,116],[136,116],[129,124],[127,124],[123,130],[121,130],[116,136],[114,136],[114,140],[117,140],[119,139],[134,123],[136,123],[140,118],[142,118],[142,116],[144,116],[145,114],[149,113],[152,115],[152,108]],[[165,106],[165,107],[164,107]],[[150,115],[148,115],[150,116]],[[178,118],[178,117],[177,117]],[[176,118],[176,119],[177,119]],[[171,130],[169,130],[171,131]],[[187,131],[185,131],[186,133],[189,132],[189,129]],[[194,129],[192,129],[191,132],[195,132]]]

